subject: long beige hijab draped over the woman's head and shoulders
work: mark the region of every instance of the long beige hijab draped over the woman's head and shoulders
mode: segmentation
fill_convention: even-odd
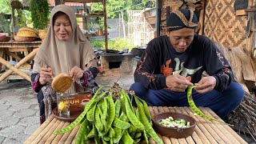
[[[58,13],[58,11],[65,13],[70,18],[72,34],[66,41],[59,40],[54,34],[54,14]],[[70,6],[58,5],[51,10],[50,27],[34,58],[33,71],[39,73],[41,67],[46,66],[51,67],[55,76],[62,72],[69,73],[74,66],[78,66],[82,70],[97,66],[94,50],[92,50],[90,42],[82,34],[77,24],[74,10]],[[82,87],[73,82],[68,91],[82,91]]]

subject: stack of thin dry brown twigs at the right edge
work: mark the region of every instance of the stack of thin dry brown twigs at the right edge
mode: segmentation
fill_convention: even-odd
[[[239,126],[241,131],[249,133],[256,142],[256,97],[254,94],[245,94],[240,106],[230,115],[231,122]]]

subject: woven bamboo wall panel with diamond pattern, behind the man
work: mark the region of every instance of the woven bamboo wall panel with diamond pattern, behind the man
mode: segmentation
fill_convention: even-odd
[[[247,16],[235,15],[234,0],[206,0],[203,34],[208,38],[226,48],[239,46],[250,51],[246,25]]]

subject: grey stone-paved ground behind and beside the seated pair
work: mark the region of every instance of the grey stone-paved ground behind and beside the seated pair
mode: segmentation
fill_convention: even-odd
[[[98,85],[113,85],[129,89],[134,82],[132,74],[108,73],[98,74]],[[0,143],[23,143],[33,134],[39,125],[39,110],[36,94],[30,82],[0,83]],[[240,134],[242,138],[244,135]],[[250,137],[245,138],[250,144],[256,144]]]

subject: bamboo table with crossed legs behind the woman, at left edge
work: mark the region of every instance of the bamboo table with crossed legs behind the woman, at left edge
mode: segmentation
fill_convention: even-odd
[[[35,54],[38,52],[38,47],[41,45],[42,41],[35,41],[35,42],[0,42],[0,63],[4,66],[7,66],[10,70],[7,70],[2,76],[0,77],[0,82],[5,80],[10,74],[15,72],[22,78],[30,81],[30,75],[22,72],[18,68],[22,66],[24,63],[30,61],[34,58]],[[19,58],[16,52],[24,51],[25,58]],[[6,53],[7,56],[13,57],[19,62],[15,66],[11,66],[8,61],[6,61],[3,57],[3,53]],[[1,67],[0,67],[1,69]]]

